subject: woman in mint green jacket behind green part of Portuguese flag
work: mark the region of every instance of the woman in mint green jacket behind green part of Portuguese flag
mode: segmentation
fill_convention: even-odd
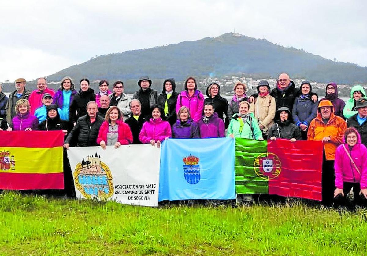
[[[240,101],[239,113],[233,114],[228,126],[227,137],[264,140],[254,113],[248,113],[249,108],[249,102]]]

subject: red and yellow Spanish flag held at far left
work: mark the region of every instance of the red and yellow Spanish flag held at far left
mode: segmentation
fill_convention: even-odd
[[[61,131],[0,131],[0,189],[63,189]]]

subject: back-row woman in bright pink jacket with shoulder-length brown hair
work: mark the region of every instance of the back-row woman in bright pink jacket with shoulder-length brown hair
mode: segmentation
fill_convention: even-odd
[[[190,116],[195,122],[201,119],[204,109],[204,95],[196,89],[196,80],[190,76],[186,79],[185,91],[181,91],[176,103],[176,113],[182,106],[186,106],[189,108]]]

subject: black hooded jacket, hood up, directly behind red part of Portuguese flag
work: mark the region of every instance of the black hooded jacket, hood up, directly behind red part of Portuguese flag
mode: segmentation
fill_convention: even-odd
[[[297,125],[293,124],[290,120],[286,120],[282,122],[280,120],[280,113],[282,111],[286,111],[288,113],[288,118],[291,116],[291,113],[287,107],[281,107],[277,110],[276,116],[278,121],[272,125],[269,129],[268,138],[275,137],[277,139],[296,139],[302,140],[301,130],[297,127]]]

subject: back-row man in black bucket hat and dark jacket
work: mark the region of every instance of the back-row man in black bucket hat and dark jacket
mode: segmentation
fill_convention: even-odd
[[[157,104],[157,92],[150,88],[152,80],[149,76],[142,76],[138,81],[140,90],[134,93],[133,99],[138,99],[141,103],[141,115],[149,117],[152,113],[150,108]]]

